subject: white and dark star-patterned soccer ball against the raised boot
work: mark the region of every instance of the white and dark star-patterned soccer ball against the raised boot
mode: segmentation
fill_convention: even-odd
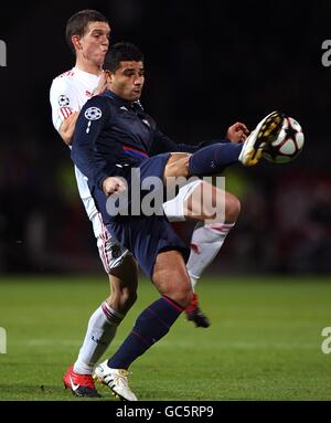
[[[266,147],[263,156],[275,163],[287,163],[302,150],[305,136],[301,125],[292,117],[285,117],[278,137]]]

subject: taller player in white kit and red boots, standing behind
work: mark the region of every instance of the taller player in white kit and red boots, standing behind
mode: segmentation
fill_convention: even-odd
[[[53,80],[50,101],[54,127],[68,146],[81,108],[88,98],[105,89],[103,63],[109,47],[109,35],[108,20],[94,10],[79,11],[67,22],[66,40],[75,52],[76,63],[71,71]],[[242,133],[241,136],[245,138],[245,128],[237,128],[236,131]],[[118,325],[136,302],[137,264],[131,253],[110,237],[90,195],[87,178],[76,167],[75,176],[79,195],[93,224],[102,262],[109,276],[110,296],[90,316],[78,358],[67,369],[63,382],[77,396],[99,396],[92,378],[93,369],[109,347]],[[183,202],[196,183],[199,181],[193,182],[192,187],[183,187],[174,200],[164,203],[164,212],[170,221],[185,220]],[[239,204],[237,208],[239,209]],[[194,230],[191,241],[193,248],[188,262],[193,288],[233,225],[223,224],[222,231],[209,225],[200,225]],[[196,326],[210,325],[199,308],[196,295],[188,307],[186,317]]]

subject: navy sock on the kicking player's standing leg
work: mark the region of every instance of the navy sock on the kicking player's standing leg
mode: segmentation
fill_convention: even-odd
[[[183,310],[166,296],[152,303],[138,317],[130,335],[108,360],[108,366],[111,369],[128,369],[132,361],[168,334]]]

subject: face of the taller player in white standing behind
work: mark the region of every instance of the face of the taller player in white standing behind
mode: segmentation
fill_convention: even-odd
[[[81,38],[81,54],[83,57],[102,66],[109,47],[110,28],[106,22],[89,22],[85,34]]]

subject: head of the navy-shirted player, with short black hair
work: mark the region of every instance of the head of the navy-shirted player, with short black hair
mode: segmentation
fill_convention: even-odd
[[[111,92],[127,102],[140,98],[145,83],[143,54],[135,44],[120,42],[111,45],[104,68]]]

